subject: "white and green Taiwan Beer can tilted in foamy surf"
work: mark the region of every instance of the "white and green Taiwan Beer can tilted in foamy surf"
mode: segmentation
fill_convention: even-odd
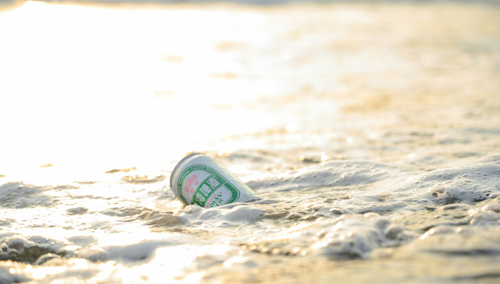
[[[170,174],[170,188],[184,205],[205,208],[261,199],[229,170],[202,153],[188,154],[177,163]]]

